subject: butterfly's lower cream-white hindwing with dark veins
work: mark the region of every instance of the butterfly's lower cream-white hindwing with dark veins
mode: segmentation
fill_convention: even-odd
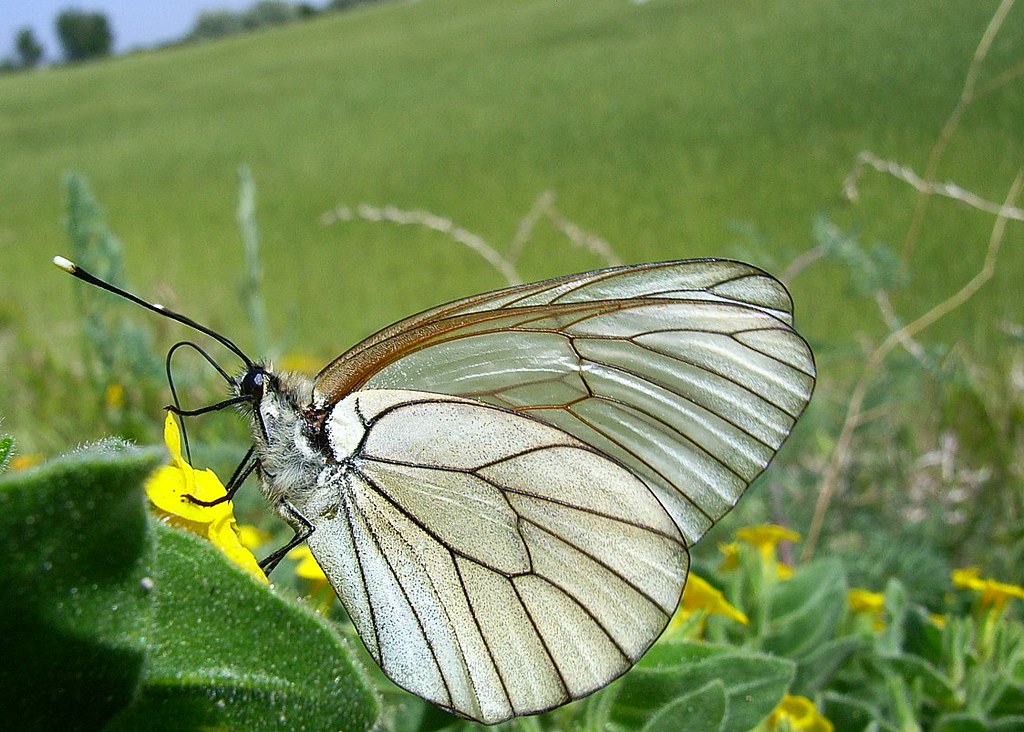
[[[337,432],[352,413],[361,440]],[[329,433],[339,463],[294,503],[367,648],[410,691],[486,723],[548,709],[629,669],[678,603],[688,554],[662,504],[558,429],[366,391]]]

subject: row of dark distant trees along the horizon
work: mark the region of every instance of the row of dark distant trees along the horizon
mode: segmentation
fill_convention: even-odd
[[[193,29],[183,38],[169,45],[221,38],[379,1],[331,0],[319,8],[304,2],[256,0],[248,8],[239,11],[204,10],[196,18]],[[61,57],[67,63],[100,58],[114,50],[114,31],[102,12],[61,10],[54,20],[54,28]],[[43,61],[45,55],[45,49],[33,29],[18,29],[14,34],[14,55],[0,60],[0,71],[34,69]]]

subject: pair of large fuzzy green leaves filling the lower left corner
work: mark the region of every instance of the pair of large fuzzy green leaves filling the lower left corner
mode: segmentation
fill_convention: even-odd
[[[147,518],[155,450],[0,477],[0,707],[28,729],[370,729],[346,644],[209,544]]]

